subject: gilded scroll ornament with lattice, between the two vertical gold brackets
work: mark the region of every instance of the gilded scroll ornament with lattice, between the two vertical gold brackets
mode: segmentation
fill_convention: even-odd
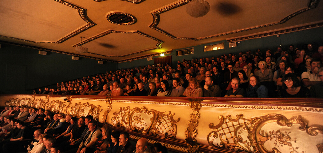
[[[156,110],[148,110],[146,107],[120,107],[119,112],[114,112],[111,123],[114,126],[120,126],[132,131],[138,130],[142,133],[150,135],[161,135],[165,138],[175,139],[177,134],[177,125],[179,122],[173,119],[175,113],[159,112]]]

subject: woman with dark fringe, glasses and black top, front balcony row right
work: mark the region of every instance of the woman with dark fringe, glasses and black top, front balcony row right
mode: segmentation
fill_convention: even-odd
[[[283,90],[278,92],[278,97],[283,98],[307,98],[310,97],[310,91],[307,87],[301,86],[300,81],[295,74],[288,73],[283,79]]]

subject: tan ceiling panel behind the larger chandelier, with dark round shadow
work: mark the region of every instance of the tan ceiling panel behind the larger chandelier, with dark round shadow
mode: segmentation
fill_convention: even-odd
[[[186,4],[163,12],[157,28],[176,38],[199,39],[229,31],[280,22],[290,14],[307,8],[305,0],[206,0],[210,11],[203,17],[194,18],[186,13]],[[175,5],[175,4],[174,4]],[[166,9],[167,10],[167,9]]]

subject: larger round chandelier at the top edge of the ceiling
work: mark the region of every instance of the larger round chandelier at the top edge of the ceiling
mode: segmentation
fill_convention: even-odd
[[[186,13],[194,18],[202,17],[210,11],[210,4],[205,0],[192,0],[186,4]]]

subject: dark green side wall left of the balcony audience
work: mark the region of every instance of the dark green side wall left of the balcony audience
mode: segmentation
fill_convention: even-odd
[[[2,44],[0,49],[0,93],[31,93],[30,90],[56,84],[83,76],[115,70],[117,63],[79,58],[47,52],[39,55],[38,50]]]

